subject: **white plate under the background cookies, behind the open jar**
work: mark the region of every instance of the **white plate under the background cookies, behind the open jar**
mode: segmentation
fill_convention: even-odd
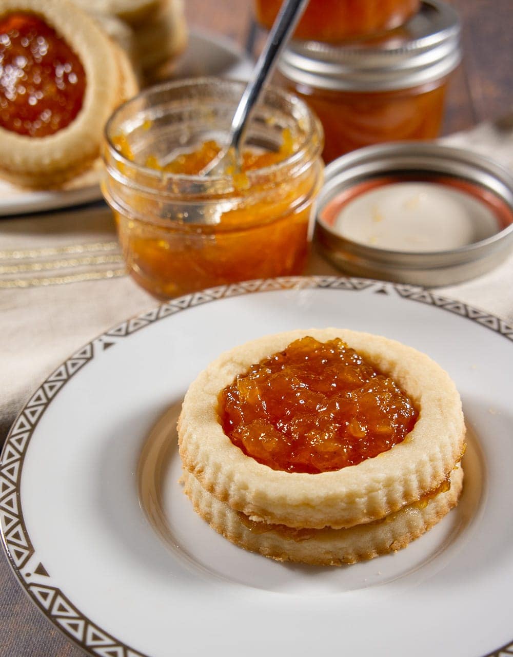
[[[187,51],[173,69],[173,78],[222,76],[246,79],[252,60],[229,39],[191,30]],[[0,217],[60,210],[102,199],[100,166],[87,171],[58,191],[28,191],[0,180]]]

